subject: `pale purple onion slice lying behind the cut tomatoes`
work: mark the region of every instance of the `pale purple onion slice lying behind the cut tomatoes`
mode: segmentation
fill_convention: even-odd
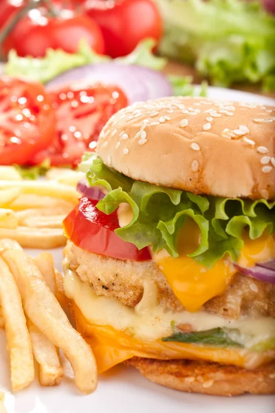
[[[94,63],[63,72],[46,85],[47,90],[61,85],[91,85],[104,83],[116,85],[123,90],[129,103],[157,99],[173,95],[173,88],[164,74],[137,65],[119,63]]]

